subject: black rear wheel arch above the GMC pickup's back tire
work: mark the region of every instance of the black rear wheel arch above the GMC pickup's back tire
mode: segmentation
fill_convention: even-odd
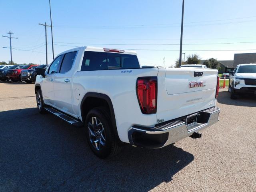
[[[86,116],[88,112],[97,107],[106,108],[106,112],[109,113],[111,120],[111,129],[114,134],[115,139],[121,143],[120,138],[118,136],[117,127],[116,127],[116,117],[114,113],[114,108],[111,99],[106,94],[96,93],[96,92],[88,92],[84,95],[82,99],[80,110],[82,116],[82,122],[85,122]]]

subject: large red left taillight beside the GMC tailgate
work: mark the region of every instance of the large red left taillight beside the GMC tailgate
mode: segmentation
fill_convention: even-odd
[[[136,92],[140,109],[143,114],[156,113],[157,78],[140,77],[137,79]]]

